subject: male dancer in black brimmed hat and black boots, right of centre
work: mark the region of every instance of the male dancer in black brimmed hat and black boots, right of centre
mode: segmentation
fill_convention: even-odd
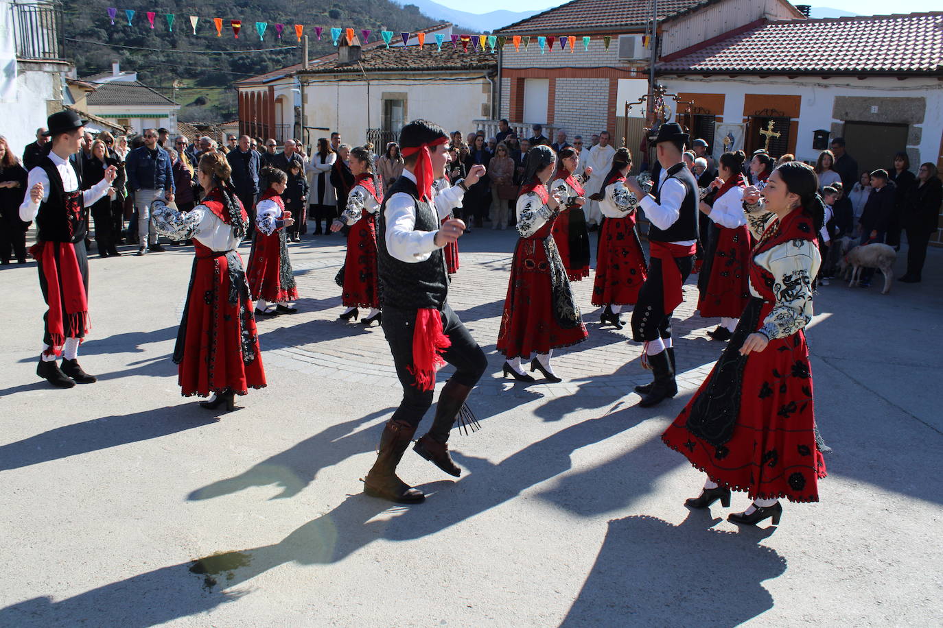
[[[698,183],[682,156],[689,137],[671,122],[662,124],[654,141],[663,166],[653,182],[654,196],[642,192],[634,180],[625,182],[652,222],[649,275],[632,311],[633,340],[645,343],[644,359],[654,375],[651,384],[636,387],[643,408],[678,394],[671,314],[684,300],[681,287],[691,273],[698,241]]]

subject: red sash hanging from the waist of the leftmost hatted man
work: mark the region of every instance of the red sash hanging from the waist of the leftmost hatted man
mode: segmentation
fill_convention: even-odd
[[[49,305],[46,324],[53,343],[48,351],[58,356],[67,336],[90,329],[89,300],[82,270],[78,267],[75,248],[69,242],[39,242],[29,252],[39,261],[46,280],[46,302]]]

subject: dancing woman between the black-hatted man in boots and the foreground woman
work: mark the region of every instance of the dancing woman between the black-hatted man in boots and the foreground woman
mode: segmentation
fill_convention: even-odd
[[[750,301],[750,230],[743,214],[746,182],[741,174],[744,159],[742,151],[720,155],[719,177],[700,205],[713,228],[698,276],[698,310],[704,318],[720,316],[718,328],[707,332],[713,340],[730,340]]]

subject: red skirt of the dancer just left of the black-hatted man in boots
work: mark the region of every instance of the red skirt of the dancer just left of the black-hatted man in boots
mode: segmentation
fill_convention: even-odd
[[[596,252],[596,279],[592,304],[635,305],[638,291],[648,277],[645,254],[632,217],[606,218]]]

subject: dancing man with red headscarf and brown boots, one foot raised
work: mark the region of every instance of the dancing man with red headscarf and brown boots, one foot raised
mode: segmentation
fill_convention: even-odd
[[[396,466],[432,405],[438,366],[449,362],[455,374],[438,395],[432,427],[414,449],[456,477],[461,470],[449,455],[449,432],[488,367],[485,352],[446,302],[449,275],[442,248],[464,233],[465,223],[451,218],[439,224],[485,174],[485,167],[473,166],[464,181],[437,192],[432,183],[445,176],[447,142],[445,131],[432,122],[412,121],[403,127],[405,169],[390,187],[378,221],[383,331],[403,384],[403,402],[384,427],[364,491],[400,504],[425,499],[396,476]]]

